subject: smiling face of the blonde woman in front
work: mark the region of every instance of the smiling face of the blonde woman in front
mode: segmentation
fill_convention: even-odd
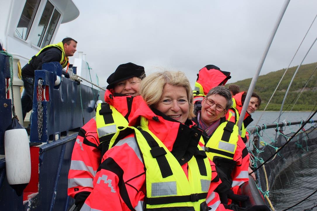
[[[153,106],[181,123],[185,123],[189,116],[187,92],[183,86],[165,84],[160,101]]]

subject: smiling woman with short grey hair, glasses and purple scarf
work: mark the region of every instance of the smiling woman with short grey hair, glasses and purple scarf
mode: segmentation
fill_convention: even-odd
[[[197,104],[196,104],[197,105]],[[223,190],[220,200],[228,203],[228,198],[234,199],[239,186],[249,181],[249,153],[243,143],[238,127],[226,120],[226,113],[232,105],[232,96],[224,86],[212,88],[201,101],[201,109],[195,109],[197,116],[193,121],[204,130],[204,149],[207,156],[223,171],[221,181],[228,181],[230,187]],[[225,176],[223,176],[225,175]],[[245,201],[246,196],[239,196]]]

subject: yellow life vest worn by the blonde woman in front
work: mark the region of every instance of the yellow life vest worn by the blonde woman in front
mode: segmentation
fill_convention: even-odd
[[[135,132],[136,142],[142,153],[146,169],[146,209],[156,211],[166,208],[200,210],[206,204],[206,197],[211,181],[211,167],[207,157],[193,156],[188,161],[188,179],[176,158],[147,127],[147,119],[141,117],[141,125],[131,128]],[[116,133],[111,139],[112,147]],[[204,154],[198,145],[198,151]]]

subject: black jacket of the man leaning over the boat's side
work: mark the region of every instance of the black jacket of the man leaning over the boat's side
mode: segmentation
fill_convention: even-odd
[[[61,50],[59,48],[48,48],[36,56],[22,68],[22,76],[25,78],[33,78],[35,70],[42,70],[42,64],[52,61],[61,61]]]

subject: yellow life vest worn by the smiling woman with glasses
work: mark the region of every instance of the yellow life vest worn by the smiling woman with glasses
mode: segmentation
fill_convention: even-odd
[[[238,127],[229,121],[219,125],[205,144],[205,151],[210,160],[215,156],[233,160],[238,142]]]

